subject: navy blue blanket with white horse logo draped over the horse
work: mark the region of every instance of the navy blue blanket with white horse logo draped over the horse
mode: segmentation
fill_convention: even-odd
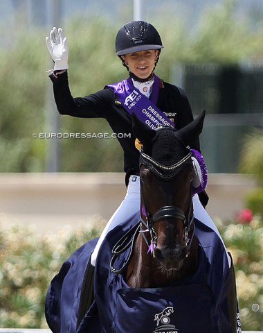
[[[64,262],[46,296],[46,320],[52,332],[241,332],[233,266],[229,268],[218,235],[197,219],[194,223],[199,240],[199,268],[190,278],[165,288],[131,289],[123,275],[111,272],[112,248],[139,219],[136,214],[116,227],[102,244],[95,268],[95,300],[78,329],[82,281],[97,240],[87,242]],[[126,257],[124,253],[114,266],[121,267]]]

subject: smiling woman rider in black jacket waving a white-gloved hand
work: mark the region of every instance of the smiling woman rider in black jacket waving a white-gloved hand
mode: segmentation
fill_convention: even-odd
[[[172,121],[177,129],[183,128],[193,120],[192,110],[183,89],[164,82],[154,74],[163,44],[152,24],[134,21],[120,28],[116,36],[116,55],[129,71],[129,77],[84,97],[73,98],[69,89],[68,46],[62,29],[53,28],[50,37],[46,37],[46,44],[55,63],[50,78],[53,81],[58,112],[73,117],[104,118],[114,133],[131,133],[130,137],[118,137],[124,152],[127,194],[107,223],[91,255],[91,264],[95,266],[98,250],[106,234],[127,219],[127,216],[132,217],[140,210],[139,151],[138,142],[137,148],[134,144],[136,137],[132,133],[131,123],[131,112],[137,112],[139,108],[134,106],[138,101],[137,97],[140,96],[140,102],[143,101],[141,109],[145,111],[141,113],[147,117],[146,123],[149,126],[155,126],[158,121]],[[156,112],[158,116],[154,119]],[[191,148],[199,151],[199,142]],[[197,169],[197,176],[193,185],[200,187],[203,175],[196,160],[194,167]],[[203,193],[202,190],[201,187],[200,191]],[[203,196],[203,199],[206,205],[207,197]],[[193,203],[194,216],[217,232],[197,194],[193,196]]]

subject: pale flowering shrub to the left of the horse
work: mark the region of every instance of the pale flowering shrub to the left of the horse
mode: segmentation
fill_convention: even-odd
[[[93,223],[97,228],[66,226],[42,237],[18,225],[0,228],[0,327],[47,327],[48,285],[71,253],[100,234],[101,221]]]

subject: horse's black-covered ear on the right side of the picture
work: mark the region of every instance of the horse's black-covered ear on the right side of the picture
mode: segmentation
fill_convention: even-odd
[[[192,144],[197,141],[199,135],[203,130],[203,121],[205,117],[206,111],[201,112],[201,114],[199,114],[199,116],[194,119],[192,123],[188,123],[188,125],[178,130],[176,134],[181,137],[185,144],[192,146]]]

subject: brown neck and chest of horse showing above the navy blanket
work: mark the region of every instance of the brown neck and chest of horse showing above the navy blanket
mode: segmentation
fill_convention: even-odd
[[[127,268],[126,282],[130,288],[167,287],[183,278],[193,275],[198,266],[197,238],[194,237],[190,254],[179,271],[164,271],[157,259],[147,254],[147,245],[141,235],[138,235],[134,245],[134,255]]]

